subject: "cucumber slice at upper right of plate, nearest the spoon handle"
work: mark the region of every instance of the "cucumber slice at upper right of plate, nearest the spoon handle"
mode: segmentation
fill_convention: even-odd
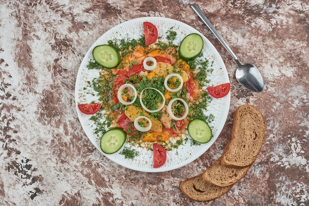
[[[190,60],[199,55],[204,46],[204,41],[199,34],[187,35],[179,46],[179,57],[184,60]]]

